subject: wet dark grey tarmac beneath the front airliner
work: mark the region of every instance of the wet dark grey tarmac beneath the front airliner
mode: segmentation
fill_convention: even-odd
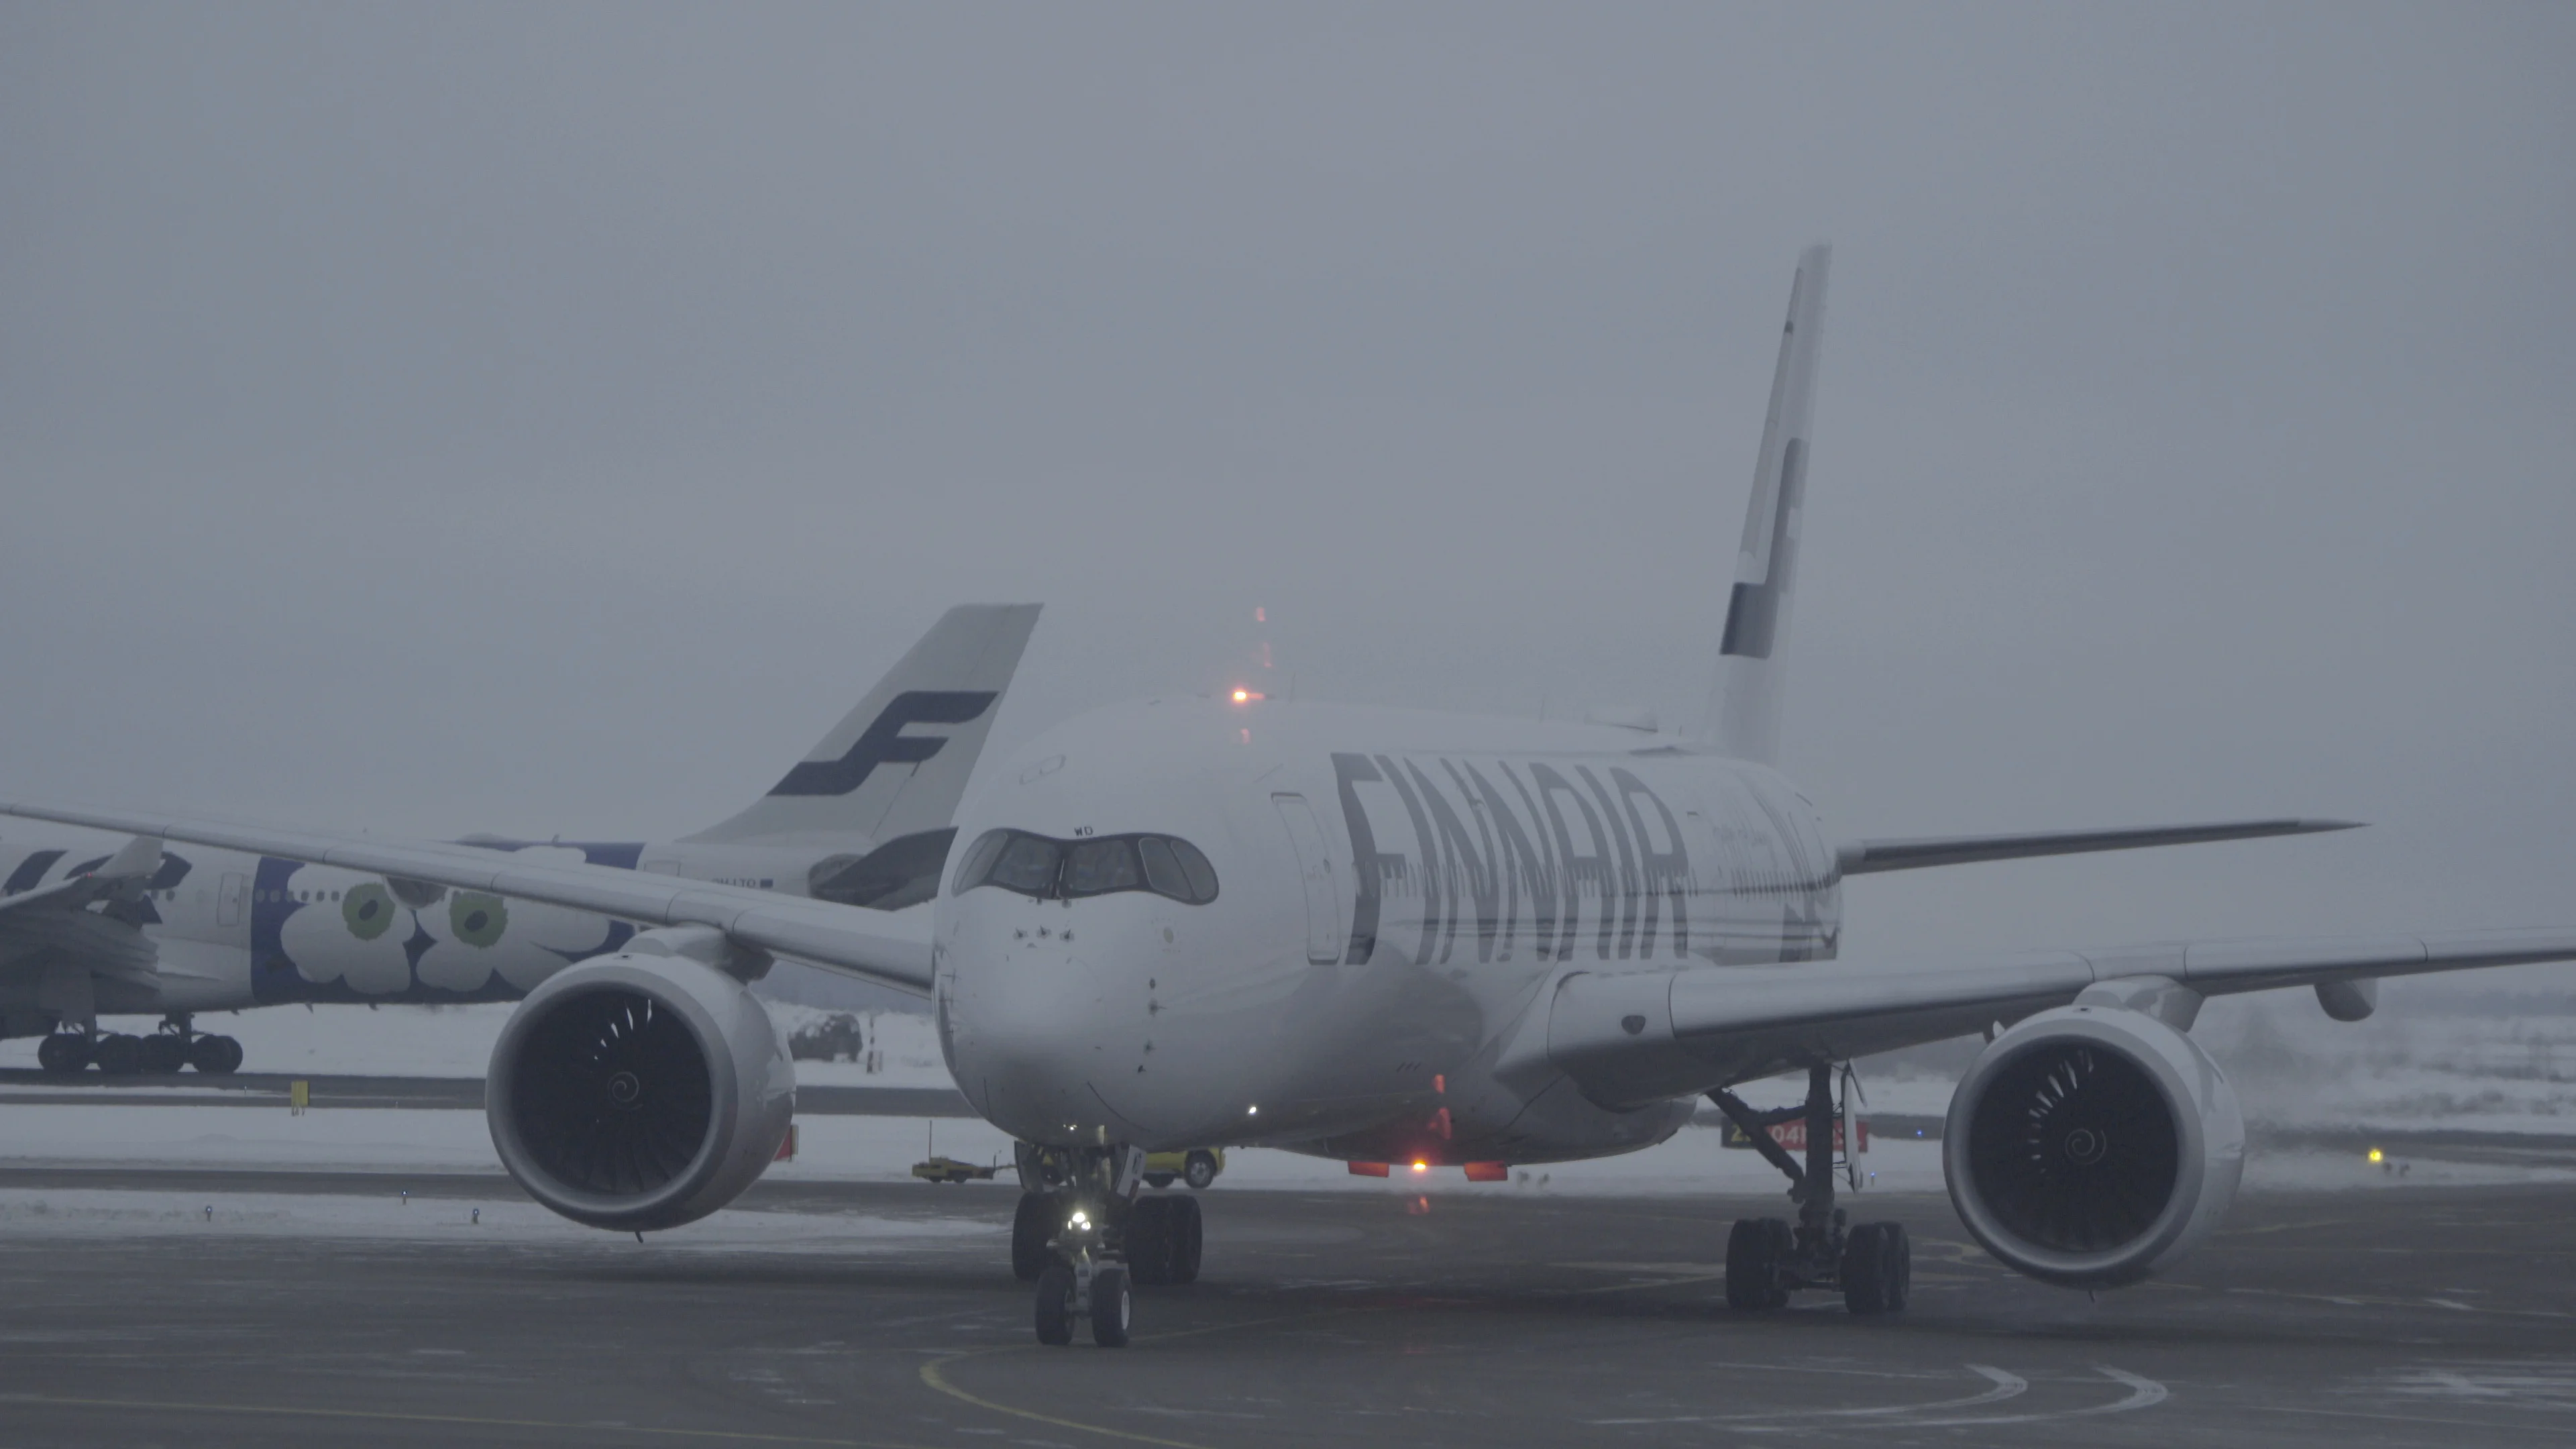
[[[440,1199],[497,1178],[410,1181]],[[392,1176],[21,1168],[0,1189],[386,1196]],[[515,1194],[513,1194],[515,1196]],[[876,1253],[0,1232],[0,1444],[2537,1444],[2576,1434],[2576,1186],[2267,1194],[2174,1279],[2045,1289],[1940,1196],[1914,1307],[1731,1315],[1777,1199],[1203,1194],[1126,1351],[1041,1348],[1010,1186],[762,1183],[971,1220]],[[417,1212],[417,1207],[415,1207]],[[719,1217],[721,1222],[721,1217]]]

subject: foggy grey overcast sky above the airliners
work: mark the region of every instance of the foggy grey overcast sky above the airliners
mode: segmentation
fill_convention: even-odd
[[[1832,240],[1832,822],[2375,822],[1850,954],[2568,923],[2571,142],[2566,5],[8,5],[0,789],[667,835],[979,598],[1005,753],[1257,603],[1677,719]]]

